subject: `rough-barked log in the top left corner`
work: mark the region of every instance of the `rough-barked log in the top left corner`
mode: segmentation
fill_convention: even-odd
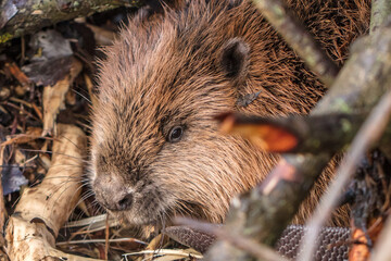
[[[3,0],[0,4],[0,44],[62,21],[89,16],[122,5],[141,4],[142,0]]]

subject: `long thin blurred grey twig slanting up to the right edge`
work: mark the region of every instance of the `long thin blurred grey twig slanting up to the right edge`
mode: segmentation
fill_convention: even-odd
[[[357,136],[354,138],[351,149],[338,170],[337,178],[332,183],[329,191],[321,198],[313,219],[308,223],[308,232],[303,239],[303,251],[299,260],[312,260],[315,251],[315,244],[321,225],[327,221],[337,206],[343,188],[354,174],[354,171],[363,159],[365,152],[381,138],[391,115],[391,91],[388,91],[380,102],[370,112],[368,119],[363,124]]]

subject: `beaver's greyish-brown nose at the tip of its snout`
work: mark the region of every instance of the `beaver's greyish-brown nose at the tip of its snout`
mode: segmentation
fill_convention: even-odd
[[[134,194],[122,178],[101,174],[96,177],[92,189],[97,200],[112,211],[129,210],[134,203]]]

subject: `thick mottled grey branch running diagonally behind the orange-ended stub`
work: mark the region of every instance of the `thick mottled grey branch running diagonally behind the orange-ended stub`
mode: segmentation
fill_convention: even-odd
[[[311,115],[353,113],[373,108],[389,89],[390,61],[390,28],[379,28],[374,35],[355,42],[351,58],[336,78],[332,88],[318,102]],[[329,153],[316,157],[283,156],[262,185],[244,196],[240,203],[231,207],[227,228],[238,229],[238,226],[241,226],[245,236],[266,245],[274,245],[330,159]],[[238,219],[241,222],[237,222]],[[243,256],[232,257],[231,260],[236,258],[240,260]]]

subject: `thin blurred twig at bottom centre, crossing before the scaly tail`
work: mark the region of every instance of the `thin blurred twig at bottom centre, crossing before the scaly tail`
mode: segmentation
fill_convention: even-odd
[[[232,246],[256,257],[258,260],[265,261],[288,261],[283,257],[279,256],[275,250],[272,248],[260,245],[253,239],[240,236],[240,235],[232,235],[228,233],[220,226],[216,226],[215,224],[200,222],[191,219],[186,217],[177,217],[175,223],[180,225],[189,226],[195,231],[204,232],[207,234],[213,234],[218,237],[220,240],[225,240]]]

